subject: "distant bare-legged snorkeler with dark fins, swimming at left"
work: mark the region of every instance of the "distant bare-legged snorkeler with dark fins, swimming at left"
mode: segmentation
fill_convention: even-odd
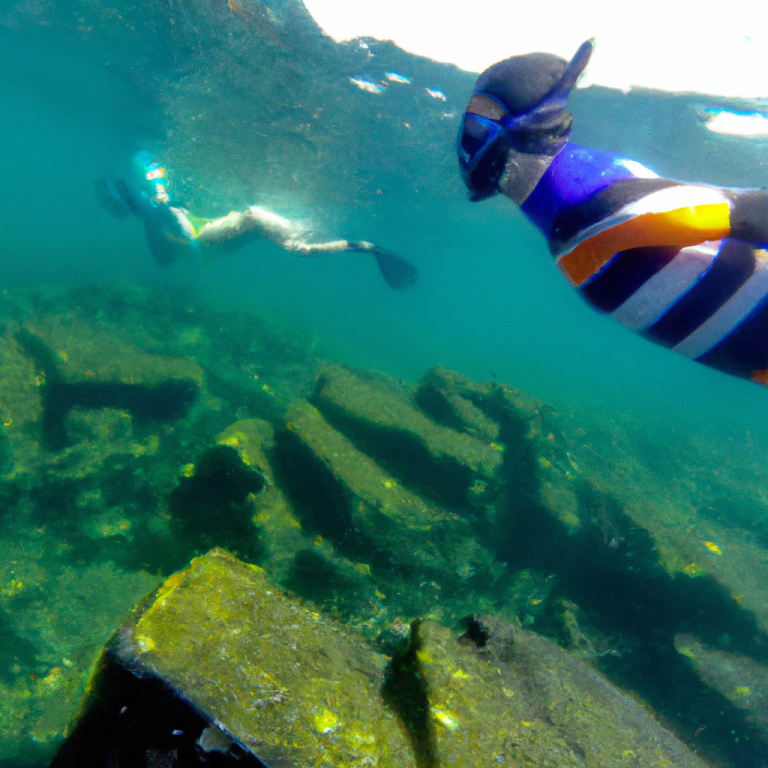
[[[161,266],[172,264],[195,246],[202,246],[209,256],[216,257],[261,237],[298,256],[366,253],[376,260],[382,277],[392,288],[407,288],[418,277],[416,268],[405,259],[364,240],[306,242],[298,223],[256,205],[218,219],[193,216],[169,195],[165,169],[160,163],[148,153],[140,152],[136,165],[142,188],[123,179],[102,179],[96,182],[96,194],[116,218],[134,215],[142,219],[149,249]]]

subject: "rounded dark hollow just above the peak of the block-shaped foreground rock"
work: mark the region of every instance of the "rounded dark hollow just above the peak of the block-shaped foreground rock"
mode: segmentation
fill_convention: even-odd
[[[249,496],[264,485],[264,477],[246,465],[234,448],[215,446],[205,451],[194,474],[182,477],[168,497],[180,564],[213,547],[223,547],[250,563],[261,562],[264,546]]]

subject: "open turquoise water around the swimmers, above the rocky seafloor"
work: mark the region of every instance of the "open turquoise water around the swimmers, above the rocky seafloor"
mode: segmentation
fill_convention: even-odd
[[[369,93],[350,82],[378,82],[385,71],[411,83]],[[599,434],[596,456],[626,459],[630,475],[652,467],[649,495],[670,509],[698,504],[721,530],[743,529],[762,548],[768,392],[597,315],[511,203],[467,200],[453,142],[474,77],[391,44],[336,45],[298,3],[3,8],[0,291],[94,283],[180,291],[297,329],[307,360],[408,382],[442,364],[508,383]],[[768,184],[765,143],[708,133],[701,103],[722,104],[590,88],[572,98],[574,140],[672,178]],[[299,259],[266,242],[213,264],[160,268],[141,223],[112,219],[93,192],[96,179],[128,174],[140,149],[167,158],[172,189],[196,213],[261,204],[311,222],[322,237],[400,253],[419,280],[397,292],[359,255]],[[227,416],[241,418],[236,409]],[[625,431],[611,443],[613,429]],[[189,460],[174,450],[180,464]],[[720,473],[728,485],[718,486]],[[750,562],[741,565],[749,582]]]

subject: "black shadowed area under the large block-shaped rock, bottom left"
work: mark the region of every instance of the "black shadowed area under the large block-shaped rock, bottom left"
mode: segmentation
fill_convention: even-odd
[[[162,681],[109,658],[83,711],[50,768],[267,768],[236,743],[203,752],[196,742],[209,721]]]

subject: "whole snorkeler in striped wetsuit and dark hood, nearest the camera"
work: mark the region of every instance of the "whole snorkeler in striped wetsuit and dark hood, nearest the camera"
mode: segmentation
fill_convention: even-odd
[[[458,138],[471,200],[519,205],[598,311],[768,385],[768,192],[671,181],[572,144],[566,104],[593,48],[570,62],[513,56],[478,77]]]

